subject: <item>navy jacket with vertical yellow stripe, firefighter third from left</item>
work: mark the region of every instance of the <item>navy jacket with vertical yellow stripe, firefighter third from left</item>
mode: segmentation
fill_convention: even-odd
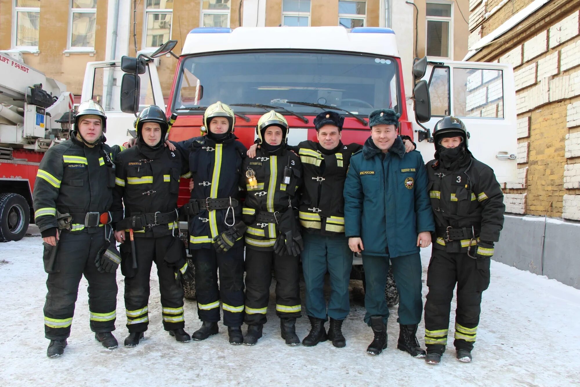
[[[247,149],[230,134],[226,140],[216,143],[204,135],[176,143],[184,166],[193,178],[194,188],[190,199],[240,199],[240,176],[242,159]],[[190,175],[191,174],[191,175]],[[227,214],[227,219],[226,219]],[[189,242],[191,249],[209,249],[213,238],[226,231],[228,224],[241,220],[240,204],[233,209],[207,210],[200,207],[200,213],[189,218]],[[235,246],[241,246],[240,239]]]

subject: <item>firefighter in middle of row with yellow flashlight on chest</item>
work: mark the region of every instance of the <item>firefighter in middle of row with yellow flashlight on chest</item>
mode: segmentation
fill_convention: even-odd
[[[298,345],[296,318],[300,317],[299,260],[302,236],[298,222],[296,190],[301,183],[302,164],[286,148],[288,123],[271,110],[256,127],[260,149],[242,163],[242,182],[247,196],[242,218],[248,225],[246,242],[244,344],[254,345],[262,337],[270,299],[272,267],[276,276],[276,314],[282,339]]]

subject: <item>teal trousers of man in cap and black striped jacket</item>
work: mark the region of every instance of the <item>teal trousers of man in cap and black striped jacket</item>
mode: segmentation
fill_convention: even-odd
[[[328,320],[344,320],[350,311],[349,282],[353,252],[344,235],[320,235],[305,232],[302,270],[306,283],[306,314]],[[324,300],[324,275],[330,274],[331,293]]]

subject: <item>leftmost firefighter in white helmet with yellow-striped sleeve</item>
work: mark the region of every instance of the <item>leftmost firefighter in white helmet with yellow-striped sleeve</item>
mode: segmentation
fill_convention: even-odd
[[[121,149],[104,142],[107,117],[94,101],[82,102],[71,138],[52,146],[34,183],[35,223],[44,240],[48,273],[44,306],[48,357],[64,353],[70,335],[78,285],[89,282],[90,329],[108,349],[117,347],[116,270],[121,261],[108,212],[113,202],[115,166]]]

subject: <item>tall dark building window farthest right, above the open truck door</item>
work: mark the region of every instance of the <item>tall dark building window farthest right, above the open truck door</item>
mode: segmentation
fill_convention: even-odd
[[[452,12],[448,2],[426,3],[426,52],[427,56],[451,58],[452,56]]]

